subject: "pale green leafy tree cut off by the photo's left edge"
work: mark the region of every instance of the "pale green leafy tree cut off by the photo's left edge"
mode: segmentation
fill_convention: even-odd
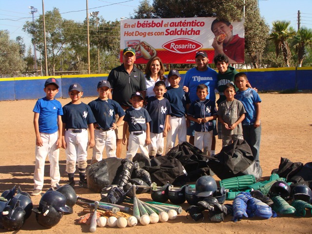
[[[0,76],[15,76],[25,67],[20,44],[10,39],[7,30],[0,30]]]

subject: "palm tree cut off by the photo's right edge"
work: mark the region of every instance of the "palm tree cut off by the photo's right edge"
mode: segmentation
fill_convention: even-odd
[[[302,61],[306,55],[306,47],[312,46],[312,29],[302,27],[297,31],[297,35],[293,37],[292,47],[298,53],[298,67],[301,67]]]

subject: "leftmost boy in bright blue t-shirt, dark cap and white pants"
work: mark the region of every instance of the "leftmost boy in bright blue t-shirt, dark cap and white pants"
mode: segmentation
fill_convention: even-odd
[[[32,196],[39,195],[43,187],[44,163],[49,155],[51,187],[56,187],[60,180],[59,148],[62,146],[61,129],[63,115],[62,105],[55,98],[59,93],[59,82],[48,78],[44,83],[45,98],[36,102],[34,107],[34,127],[36,133],[36,162],[34,172],[34,191]]]

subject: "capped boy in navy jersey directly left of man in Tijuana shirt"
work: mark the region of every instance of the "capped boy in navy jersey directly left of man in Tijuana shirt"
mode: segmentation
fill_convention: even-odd
[[[178,143],[181,144],[186,141],[186,112],[190,105],[190,98],[179,86],[181,76],[177,70],[171,70],[168,74],[168,81],[170,86],[167,87],[167,92],[164,97],[170,102],[171,115],[169,117],[168,135],[166,154],[174,147],[176,143],[176,136]]]

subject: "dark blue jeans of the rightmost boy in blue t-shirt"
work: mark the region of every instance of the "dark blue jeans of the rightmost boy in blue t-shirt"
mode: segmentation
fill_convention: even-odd
[[[261,124],[258,128],[255,128],[254,125],[243,125],[243,135],[244,139],[252,149],[254,160],[259,162]]]

